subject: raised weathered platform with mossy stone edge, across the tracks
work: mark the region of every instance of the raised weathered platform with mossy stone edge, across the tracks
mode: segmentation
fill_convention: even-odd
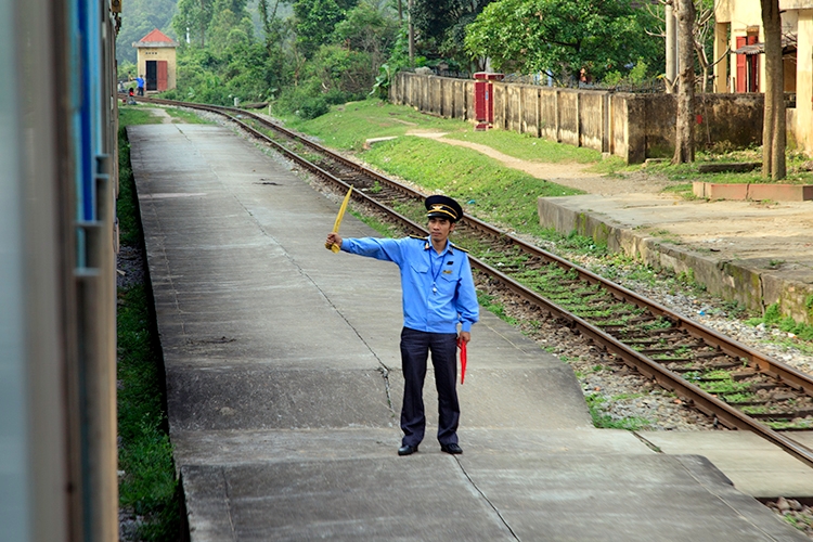
[[[656,267],[692,271],[712,294],[813,324],[813,202],[706,202],[671,195],[539,199],[542,225],[606,241]]]

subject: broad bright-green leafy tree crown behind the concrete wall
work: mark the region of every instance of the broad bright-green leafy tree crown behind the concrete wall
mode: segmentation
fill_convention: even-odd
[[[602,78],[638,57],[662,57],[659,40],[644,30],[648,17],[627,0],[498,0],[468,26],[465,46],[496,69],[564,81],[585,68]]]

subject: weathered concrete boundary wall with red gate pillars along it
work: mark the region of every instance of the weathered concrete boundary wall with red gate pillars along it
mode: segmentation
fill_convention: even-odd
[[[674,152],[675,96],[495,81],[494,127],[620,156],[629,164]],[[447,118],[476,121],[474,80],[399,72],[389,99]],[[762,94],[699,94],[699,146],[762,141]]]

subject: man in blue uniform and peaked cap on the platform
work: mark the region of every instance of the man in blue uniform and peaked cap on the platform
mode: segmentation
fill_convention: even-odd
[[[417,452],[424,438],[424,379],[431,351],[438,389],[438,441],[446,453],[463,453],[457,443],[457,339],[468,343],[479,318],[468,255],[449,241],[463,209],[451,197],[426,198],[428,237],[341,238],[331,232],[327,243],[341,250],[392,261],[401,269],[403,330],[401,364],[404,377],[399,455]],[[460,324],[460,334],[457,325]]]

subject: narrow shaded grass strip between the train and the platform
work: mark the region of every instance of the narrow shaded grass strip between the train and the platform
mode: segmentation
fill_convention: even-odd
[[[120,112],[120,192],[116,211],[122,247],[143,244],[125,126],[151,124],[153,119],[147,112],[134,107]],[[136,533],[139,540],[175,540],[181,526],[180,489],[167,433],[163,363],[146,284],[118,289],[116,328],[118,463],[124,472],[119,478],[119,507],[143,518]]]

